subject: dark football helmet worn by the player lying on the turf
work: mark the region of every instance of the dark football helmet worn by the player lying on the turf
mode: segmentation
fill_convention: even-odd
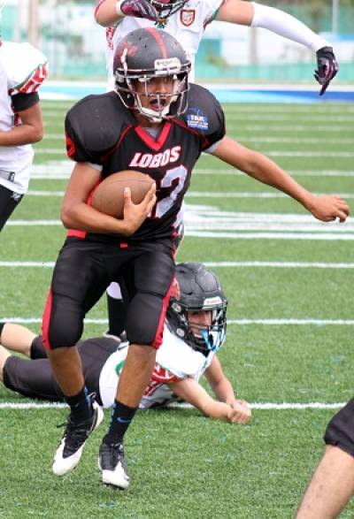
[[[212,310],[212,324],[201,326],[196,334],[187,312],[204,310]],[[218,278],[203,263],[177,265],[167,324],[178,337],[204,355],[222,346],[227,330],[227,298]]]

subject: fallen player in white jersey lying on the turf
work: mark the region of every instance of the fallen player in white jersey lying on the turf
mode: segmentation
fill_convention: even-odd
[[[139,408],[163,407],[181,397],[205,416],[246,424],[250,408],[245,401],[235,398],[216,356],[227,330],[227,300],[219,280],[202,263],[180,263],[173,287],[164,340]],[[35,336],[19,324],[4,323],[0,324],[0,343],[31,359],[10,355],[0,346],[0,380],[8,389],[30,398],[64,400],[50,369],[42,336]],[[97,337],[79,341],[77,347],[89,392],[96,393],[99,405],[112,407],[119,371],[127,357],[127,342],[119,344],[113,338]],[[203,374],[218,401],[198,383]]]

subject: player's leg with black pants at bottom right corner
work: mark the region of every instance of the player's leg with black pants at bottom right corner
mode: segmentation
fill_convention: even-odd
[[[335,519],[354,495],[354,398],[329,422],[325,442],[296,519]]]

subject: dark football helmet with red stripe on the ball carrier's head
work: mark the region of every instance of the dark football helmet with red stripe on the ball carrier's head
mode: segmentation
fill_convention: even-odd
[[[138,110],[153,121],[173,118],[187,109],[190,60],[171,34],[147,27],[128,33],[118,44],[113,60],[115,89],[127,108]],[[171,95],[149,94],[153,78],[173,77]],[[137,82],[145,86],[144,96],[157,101],[156,110],[142,106]]]

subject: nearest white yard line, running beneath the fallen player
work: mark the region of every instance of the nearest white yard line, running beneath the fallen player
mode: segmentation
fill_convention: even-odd
[[[327,403],[327,402],[251,402],[250,408],[259,409],[259,410],[291,410],[291,409],[336,409],[342,408],[345,405],[345,402],[335,402],[335,403]],[[175,409],[190,409],[193,408],[189,403],[171,403],[167,406],[168,408]],[[64,402],[0,402],[0,409],[62,409],[67,408],[67,404]]]

